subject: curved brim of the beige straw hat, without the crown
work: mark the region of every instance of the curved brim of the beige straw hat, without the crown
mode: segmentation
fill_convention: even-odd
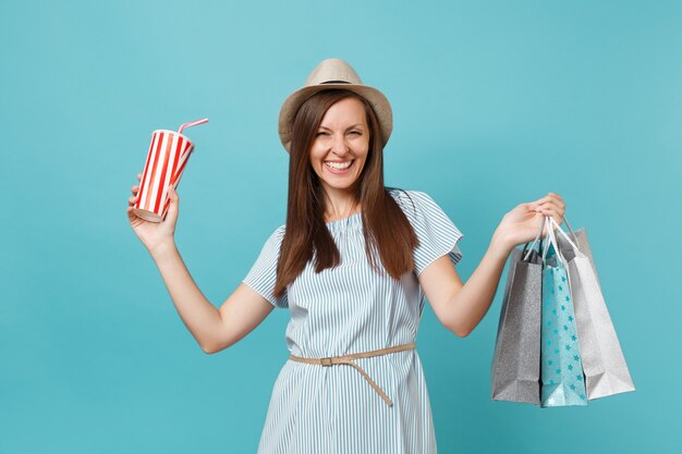
[[[369,105],[372,105],[372,108],[377,115],[377,120],[379,121],[379,127],[381,128],[381,142],[383,146],[386,146],[393,130],[393,112],[388,98],[383,96],[381,91],[368,85],[361,84],[319,84],[299,88],[282,103],[279,114],[279,137],[288,152],[291,152],[293,120],[299,111],[299,108],[316,93],[334,88],[354,91],[369,101]]]

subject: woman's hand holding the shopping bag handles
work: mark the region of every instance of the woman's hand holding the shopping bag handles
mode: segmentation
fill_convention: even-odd
[[[548,193],[535,201],[516,206],[502,218],[495,234],[510,248],[535,240],[543,218],[551,216],[561,225],[565,204],[559,194]],[[543,231],[545,237],[546,231]]]

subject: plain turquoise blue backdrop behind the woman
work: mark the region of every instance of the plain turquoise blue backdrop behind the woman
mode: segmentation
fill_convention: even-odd
[[[464,232],[464,279],[507,211],[563,196],[637,386],[491,402],[501,290],[464,340],[427,307],[439,451],[680,452],[680,23],[678,1],[3,2],[0,453],[255,452],[288,312],[204,354],[125,207],[151,131],[208,116],[176,243],[222,304],[284,222],[281,102],[330,57],[391,100],[386,182]]]

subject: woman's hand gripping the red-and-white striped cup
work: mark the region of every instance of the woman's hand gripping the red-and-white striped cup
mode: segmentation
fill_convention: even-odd
[[[142,179],[142,173],[137,174],[137,180]],[[173,187],[169,188],[170,206],[166,213],[166,219],[161,222],[146,221],[133,212],[133,205],[137,201],[139,185],[132,187],[133,195],[127,199],[127,219],[131,228],[145,245],[149,253],[154,253],[156,248],[165,244],[173,244],[175,234],[175,224],[178,222],[178,193]]]

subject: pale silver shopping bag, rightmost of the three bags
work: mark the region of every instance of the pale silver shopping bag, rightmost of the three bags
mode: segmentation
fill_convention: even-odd
[[[573,232],[567,221],[573,235],[572,241],[557,221],[549,219],[560,233],[559,248],[569,263],[569,282],[575,308],[587,398],[634,391],[625,357],[604,300],[587,234],[584,229]]]

